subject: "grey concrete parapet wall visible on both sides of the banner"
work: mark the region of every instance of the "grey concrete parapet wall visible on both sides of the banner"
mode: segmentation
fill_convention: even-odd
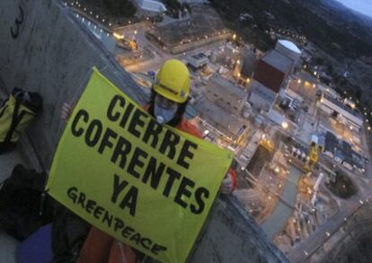
[[[92,66],[135,101],[146,100],[128,73],[57,0],[0,1],[0,36],[0,87],[4,84],[9,93],[19,86],[44,98],[44,110],[29,135],[46,169],[65,126],[59,118],[62,103],[79,97]],[[190,262],[227,260],[287,262],[230,198],[217,200],[190,255]]]

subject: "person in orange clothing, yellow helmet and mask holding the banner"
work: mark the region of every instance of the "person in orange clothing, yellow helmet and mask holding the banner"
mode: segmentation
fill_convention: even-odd
[[[193,126],[183,114],[189,101],[190,73],[177,59],[170,59],[160,68],[152,86],[151,96],[145,110],[159,124],[176,127],[192,136],[201,138],[198,128]],[[72,107],[64,104],[62,118],[69,118]],[[236,185],[235,171],[230,169],[221,185],[223,194],[231,193]],[[92,227],[80,254],[79,263],[137,262],[140,252],[134,252],[128,245],[115,241],[110,235]],[[139,257],[138,257],[139,256]]]

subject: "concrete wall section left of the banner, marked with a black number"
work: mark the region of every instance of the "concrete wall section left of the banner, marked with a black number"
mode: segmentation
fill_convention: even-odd
[[[0,36],[0,78],[6,92],[19,86],[44,99],[42,115],[29,134],[46,169],[64,127],[62,103],[79,97],[93,66],[136,101],[142,99],[136,83],[58,1],[0,1]]]

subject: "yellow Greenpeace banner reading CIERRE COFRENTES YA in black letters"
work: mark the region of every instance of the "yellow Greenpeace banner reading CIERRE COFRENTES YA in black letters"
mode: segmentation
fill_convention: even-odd
[[[233,155],[155,119],[97,69],[66,125],[47,189],[163,262],[184,262]]]

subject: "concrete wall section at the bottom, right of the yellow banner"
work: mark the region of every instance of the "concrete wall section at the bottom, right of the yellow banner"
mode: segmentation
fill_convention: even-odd
[[[235,197],[221,197],[199,235],[192,263],[288,262]]]

